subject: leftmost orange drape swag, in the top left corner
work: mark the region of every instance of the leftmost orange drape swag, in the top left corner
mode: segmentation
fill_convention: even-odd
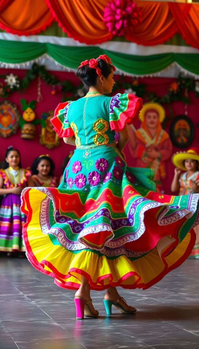
[[[54,21],[44,0],[1,0],[0,28],[17,35],[33,35]]]

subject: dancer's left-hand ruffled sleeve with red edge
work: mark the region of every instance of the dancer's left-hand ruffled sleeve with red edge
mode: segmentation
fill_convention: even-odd
[[[59,137],[71,137],[74,136],[74,132],[70,127],[70,123],[67,118],[68,109],[72,101],[60,103],[54,112],[54,116],[51,119],[54,131]]]

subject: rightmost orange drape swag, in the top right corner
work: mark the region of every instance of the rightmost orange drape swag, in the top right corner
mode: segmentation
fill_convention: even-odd
[[[199,49],[199,5],[169,2],[169,7],[182,38]]]

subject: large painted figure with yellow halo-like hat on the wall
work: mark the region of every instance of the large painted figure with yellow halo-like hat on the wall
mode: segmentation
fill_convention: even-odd
[[[162,179],[166,178],[165,161],[172,155],[172,143],[169,134],[162,129],[161,122],[165,118],[165,110],[158,103],[145,103],[140,111],[141,127],[136,130],[129,127],[129,148],[136,167],[155,170],[154,182],[157,191],[161,192]]]

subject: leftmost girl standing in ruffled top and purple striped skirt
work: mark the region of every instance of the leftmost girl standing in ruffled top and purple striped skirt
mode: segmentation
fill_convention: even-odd
[[[21,168],[20,152],[10,146],[5,155],[4,170],[0,170],[0,195],[3,195],[0,208],[0,251],[7,251],[8,257],[22,257],[25,251],[22,243],[22,227],[26,221],[21,212],[21,192],[28,184],[34,186],[31,172]]]

